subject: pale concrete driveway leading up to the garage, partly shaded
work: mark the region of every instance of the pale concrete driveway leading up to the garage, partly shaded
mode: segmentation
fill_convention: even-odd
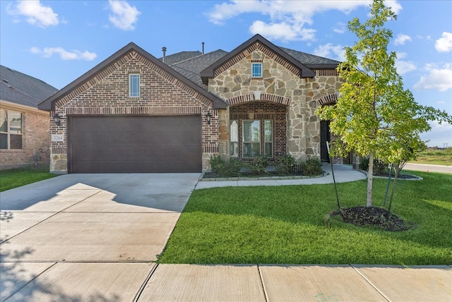
[[[133,300],[199,176],[69,174],[1,192],[0,301]]]

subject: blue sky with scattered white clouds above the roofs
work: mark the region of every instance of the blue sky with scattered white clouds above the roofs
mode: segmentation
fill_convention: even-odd
[[[371,1],[0,0],[0,64],[61,89],[129,42],[153,56],[230,52],[255,34],[280,47],[343,61]],[[398,16],[388,50],[416,102],[452,115],[452,0],[386,1]],[[432,122],[427,145],[452,147],[452,125]]]

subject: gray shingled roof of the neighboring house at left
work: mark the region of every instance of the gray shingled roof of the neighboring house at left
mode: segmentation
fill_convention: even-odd
[[[57,88],[0,65],[0,99],[37,108],[37,104],[57,92]]]

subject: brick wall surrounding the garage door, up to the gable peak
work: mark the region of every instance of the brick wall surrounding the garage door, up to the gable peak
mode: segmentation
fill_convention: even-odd
[[[140,97],[129,97],[129,73],[140,74]],[[129,52],[100,71],[73,92],[59,99],[51,116],[61,116],[61,126],[50,123],[52,134],[64,135],[63,142],[51,142],[50,171],[68,171],[68,115],[200,115],[202,124],[203,167],[208,169],[210,155],[218,154],[218,110],[209,99],[174,78],[136,52]],[[206,122],[210,111],[212,121]]]

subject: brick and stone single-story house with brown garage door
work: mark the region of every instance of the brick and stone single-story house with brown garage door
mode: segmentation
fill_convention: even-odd
[[[261,35],[232,52],[162,50],[127,44],[38,106],[59,119],[53,173],[201,172],[212,155],[328,160],[328,122],[314,111],[337,99],[340,62]]]

